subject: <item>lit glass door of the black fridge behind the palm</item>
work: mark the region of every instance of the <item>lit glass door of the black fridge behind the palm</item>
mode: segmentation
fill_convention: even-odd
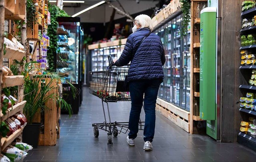
[[[62,20],[58,18],[56,72],[63,73],[72,84],[78,84],[80,20]]]

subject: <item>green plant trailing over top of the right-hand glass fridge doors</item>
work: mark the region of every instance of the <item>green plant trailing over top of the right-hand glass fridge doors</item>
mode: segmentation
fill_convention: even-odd
[[[191,7],[191,2],[190,0],[180,0],[182,3],[182,14],[183,14],[183,20],[181,23],[181,29],[180,29],[180,34],[185,36],[187,34],[188,30],[188,24],[190,23],[190,7]]]

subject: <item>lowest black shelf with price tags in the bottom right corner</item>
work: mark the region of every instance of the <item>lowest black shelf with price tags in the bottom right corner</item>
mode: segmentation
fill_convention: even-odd
[[[256,138],[253,138],[247,134],[239,132],[237,135],[237,142],[254,151],[256,151]]]

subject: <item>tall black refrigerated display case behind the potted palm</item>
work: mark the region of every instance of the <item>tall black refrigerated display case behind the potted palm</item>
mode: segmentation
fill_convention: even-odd
[[[71,104],[73,114],[78,114],[81,95],[81,42],[80,18],[58,17],[57,52],[54,57],[56,72],[65,76],[62,82],[63,98]],[[72,83],[78,90],[78,95],[73,98],[72,91],[67,82]],[[65,110],[61,111],[66,114]]]

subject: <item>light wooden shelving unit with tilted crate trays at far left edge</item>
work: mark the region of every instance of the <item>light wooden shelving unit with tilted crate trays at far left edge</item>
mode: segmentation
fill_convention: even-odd
[[[26,0],[0,0],[0,28],[4,28],[4,18],[8,20],[22,20],[24,21],[26,19]],[[4,9],[3,9],[4,8]],[[11,28],[11,27],[10,27]],[[9,29],[10,29],[9,28]],[[4,36],[4,30],[0,30],[0,36]],[[26,37],[21,38],[22,41],[26,41]],[[2,70],[3,66],[3,59],[9,58],[12,60],[22,60],[22,58],[25,56],[26,51],[14,49],[11,47],[6,46],[6,54],[4,55],[4,38],[0,37],[0,70]],[[20,86],[23,84],[24,76],[2,76],[2,73],[0,73],[0,93],[2,91],[2,88],[5,87],[11,87],[11,86]],[[18,94],[19,96],[20,94]],[[19,98],[20,103],[17,103],[16,105],[12,106],[12,108],[9,108],[6,111],[6,114],[4,115],[2,113],[2,110],[0,112],[0,119],[1,122],[9,118],[10,116],[16,114],[17,112],[22,112],[22,109],[24,108],[26,101],[22,101],[23,98]],[[1,151],[4,150],[8,145],[10,145],[20,134],[22,133],[22,130],[24,129],[24,126],[18,130],[16,130],[13,134],[11,134],[9,137],[2,137],[1,138]]]

